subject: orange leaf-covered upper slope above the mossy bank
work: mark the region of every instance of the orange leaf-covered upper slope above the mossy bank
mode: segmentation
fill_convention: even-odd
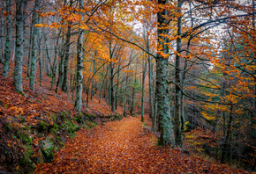
[[[12,116],[22,116],[29,124],[34,125],[38,121],[34,118],[41,117],[42,119],[48,120],[50,113],[67,111],[71,112],[72,115],[75,114],[73,109],[74,101],[72,101],[72,95],[75,98],[75,92],[72,94],[72,91],[65,93],[64,91],[58,90],[58,93],[56,93],[56,85],[51,89],[51,78],[45,74],[41,85],[37,81],[35,83],[35,91],[31,91],[28,77],[26,76],[26,68],[24,68],[24,93],[19,94],[15,91],[13,85],[13,73],[11,73],[14,71],[13,62],[11,62],[10,66],[10,76],[4,78],[2,76],[4,66],[0,63],[0,118],[3,115],[10,120]],[[36,79],[40,79],[39,73],[36,74]],[[84,96],[83,99],[85,98]],[[82,112],[105,116],[115,114],[111,112],[105,99],[102,99],[101,104],[99,104],[99,98],[96,96],[93,99],[89,99],[88,107],[83,102]],[[117,113],[123,113],[122,108],[119,106],[117,107]]]

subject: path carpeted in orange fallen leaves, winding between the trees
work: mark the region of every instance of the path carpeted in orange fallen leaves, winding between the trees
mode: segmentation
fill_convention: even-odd
[[[148,120],[148,119],[147,119]],[[35,173],[249,173],[156,146],[139,116],[81,129]]]

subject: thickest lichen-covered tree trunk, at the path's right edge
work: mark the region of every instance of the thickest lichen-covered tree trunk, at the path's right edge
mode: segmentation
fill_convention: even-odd
[[[156,54],[156,91],[155,97],[157,101],[157,115],[159,117],[160,141],[159,145],[175,146],[175,138],[173,134],[173,126],[169,112],[169,86],[168,86],[168,57],[159,54],[169,54],[169,47],[166,43],[169,42],[163,35],[169,33],[166,25],[169,25],[169,20],[165,18],[168,13],[164,8],[168,4],[168,0],[158,0],[158,4],[162,5],[161,11],[157,12],[157,45],[158,53]]]

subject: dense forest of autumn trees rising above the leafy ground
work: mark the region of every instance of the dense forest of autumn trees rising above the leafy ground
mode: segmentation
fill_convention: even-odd
[[[26,80],[34,95],[47,81],[76,112],[97,98],[124,117],[140,113],[144,122],[149,113],[159,145],[255,170],[255,3],[1,1],[3,81],[25,96]]]

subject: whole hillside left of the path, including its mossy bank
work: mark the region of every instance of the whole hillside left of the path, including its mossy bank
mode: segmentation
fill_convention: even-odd
[[[17,93],[12,83],[13,64],[8,78],[2,76],[3,65],[0,64],[0,171],[29,171],[39,161],[47,161],[46,156],[40,160],[40,145],[44,139],[52,136],[55,139],[52,143],[59,148],[63,146],[59,142],[64,141],[62,137],[74,134],[79,127],[93,127],[101,120],[114,120],[114,115],[122,113],[119,107],[117,113],[111,112],[107,102],[102,99],[99,104],[96,97],[89,100],[88,108],[84,104],[81,113],[76,112],[72,92],[56,93],[50,89],[51,79],[46,75],[41,85],[37,81],[35,91],[31,91],[26,68],[23,70],[24,93]],[[51,152],[56,150],[51,149]]]

